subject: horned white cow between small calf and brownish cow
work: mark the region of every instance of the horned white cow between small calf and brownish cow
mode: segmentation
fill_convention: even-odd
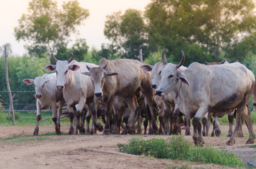
[[[56,65],[47,65],[45,70],[55,70],[57,74],[56,88],[63,91],[63,96],[68,106],[70,115],[70,129],[69,134],[74,132],[73,119],[75,115],[76,129],[81,133],[85,132],[84,119],[83,119],[83,108],[88,104],[89,111],[92,112],[92,104],[94,99],[94,86],[89,77],[82,75],[82,72],[88,71],[86,65],[95,67],[97,65],[93,63],[77,62],[72,61],[74,58],[71,54],[71,58],[68,61],[59,61],[52,54],[52,59],[56,62]],[[103,126],[98,122],[96,115],[93,116],[96,122],[95,126],[98,130],[102,131]],[[76,130],[77,132],[77,130]],[[92,125],[91,133],[95,132],[94,125]]]

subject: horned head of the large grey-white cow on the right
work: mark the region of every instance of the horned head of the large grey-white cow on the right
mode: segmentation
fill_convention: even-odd
[[[161,71],[161,77],[162,77],[161,83],[159,84],[159,87],[156,89],[157,95],[159,96],[164,95],[165,92],[169,90],[172,90],[174,93],[177,94],[178,89],[180,87],[179,81],[189,85],[189,83],[187,82],[187,78],[179,69],[180,66],[182,66],[182,64],[184,63],[184,61],[185,61],[185,56],[182,51],[182,58],[178,65],[175,65],[173,63],[168,63],[165,65],[165,68],[163,68],[163,70]],[[171,95],[170,97],[172,99],[175,98],[175,96],[173,95]]]

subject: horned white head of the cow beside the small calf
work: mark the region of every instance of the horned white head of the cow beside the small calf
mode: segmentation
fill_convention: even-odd
[[[57,75],[56,88],[58,90],[66,89],[67,84],[70,83],[71,80],[71,71],[78,70],[80,68],[79,65],[71,64],[74,55],[71,53],[71,58],[68,61],[59,61],[52,54],[52,59],[55,61],[56,65],[47,65],[45,66],[45,70],[54,71]]]

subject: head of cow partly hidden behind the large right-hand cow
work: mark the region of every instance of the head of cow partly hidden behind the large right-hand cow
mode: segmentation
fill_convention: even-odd
[[[158,62],[155,65],[141,65],[141,68],[145,71],[148,71],[151,73],[151,78],[152,78],[152,84],[151,87],[156,89],[158,88],[158,85],[161,82],[161,72],[163,70],[163,68],[165,67],[165,65],[167,64],[166,58],[165,58],[165,51],[166,49],[163,51],[162,54],[162,60],[163,62]]]

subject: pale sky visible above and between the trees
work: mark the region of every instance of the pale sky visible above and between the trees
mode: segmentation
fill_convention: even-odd
[[[28,13],[29,1],[31,0],[1,0],[0,46],[10,43],[13,54],[20,56],[26,52],[23,47],[25,42],[16,41],[13,29],[18,26],[18,19],[21,18],[21,15]],[[61,6],[63,1],[57,0],[58,6]],[[128,8],[144,11],[151,0],[78,0],[78,2],[80,6],[89,10],[90,16],[85,20],[84,25],[77,27],[80,35],[71,38],[74,41],[76,38],[85,38],[90,49],[94,46],[99,50],[101,44],[108,42],[103,33],[106,15],[117,11],[124,13]]]

